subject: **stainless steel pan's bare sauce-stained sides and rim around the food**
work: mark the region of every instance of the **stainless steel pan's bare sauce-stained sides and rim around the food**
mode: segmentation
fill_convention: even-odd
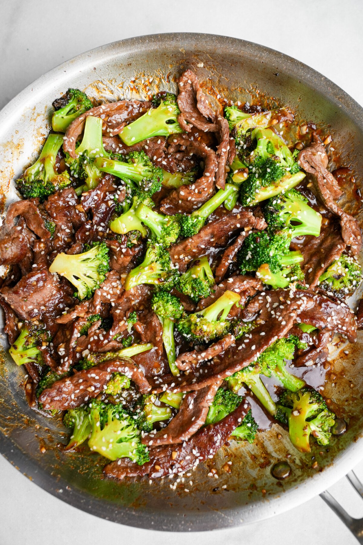
[[[149,90],[174,89],[175,76],[187,66],[215,96],[250,102],[259,96],[267,104],[288,105],[298,119],[323,127],[333,135],[342,162],[353,167],[359,183],[363,180],[363,110],[334,83],[297,60],[246,41],[207,34],[159,34],[83,53],[39,78],[0,112],[0,182],[7,203],[17,198],[14,177],[38,154],[50,129],[52,101],[61,92],[79,87],[97,99],[146,98]],[[148,83],[150,76],[153,80]],[[131,78],[135,79],[130,85]],[[1,341],[7,348],[3,334]],[[27,407],[19,387],[23,371],[6,354],[0,365],[0,450],[47,492],[122,524],[186,531],[267,518],[322,492],[361,459],[361,343],[362,336],[355,347],[348,348],[348,355],[341,353],[334,368],[337,378],[328,373],[325,388],[325,395],[341,407],[339,416],[348,421],[348,431],[330,449],[316,449],[310,455],[300,455],[287,434],[273,426],[259,434],[254,445],[225,447],[215,461],[208,467],[201,465],[175,490],[168,479],[151,485],[147,480],[104,480],[96,455],[59,452],[56,444],[65,441],[63,428]],[[292,468],[284,481],[270,473],[281,460]],[[232,461],[231,473],[223,469],[226,461]],[[218,479],[208,476],[212,468],[217,469]]]

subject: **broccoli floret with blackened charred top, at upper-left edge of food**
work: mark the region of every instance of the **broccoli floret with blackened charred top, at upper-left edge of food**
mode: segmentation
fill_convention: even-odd
[[[88,96],[79,89],[68,89],[66,94],[58,99],[57,102],[66,104],[58,108],[52,116],[52,129],[56,132],[65,132],[69,125],[81,116],[82,113],[90,110],[93,105]],[[54,103],[53,103],[54,106]]]

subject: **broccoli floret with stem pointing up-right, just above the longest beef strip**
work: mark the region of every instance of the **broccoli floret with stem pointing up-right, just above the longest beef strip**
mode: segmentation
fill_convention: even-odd
[[[227,290],[212,305],[177,323],[178,331],[187,339],[198,343],[208,343],[224,337],[232,329],[226,318],[233,305],[241,299],[235,292]]]

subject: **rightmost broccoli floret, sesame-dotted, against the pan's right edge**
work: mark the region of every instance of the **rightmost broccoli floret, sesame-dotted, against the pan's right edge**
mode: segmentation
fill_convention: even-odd
[[[352,294],[362,279],[362,270],[353,257],[342,254],[319,277],[320,287],[335,295]]]

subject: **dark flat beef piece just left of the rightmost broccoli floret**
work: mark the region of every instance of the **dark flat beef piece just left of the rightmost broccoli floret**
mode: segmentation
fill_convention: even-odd
[[[318,237],[307,235],[302,240],[293,241],[291,250],[299,250],[304,257],[302,269],[304,271],[306,286],[314,289],[319,277],[324,270],[339,259],[346,249],[341,237],[341,229],[335,222],[328,220],[321,227]]]

